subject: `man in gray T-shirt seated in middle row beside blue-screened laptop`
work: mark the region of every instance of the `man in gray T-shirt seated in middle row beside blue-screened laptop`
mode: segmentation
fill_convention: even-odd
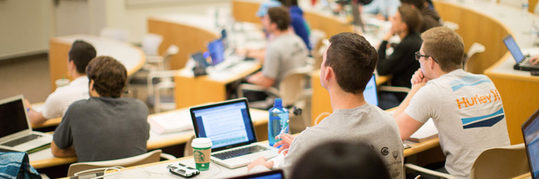
[[[301,38],[288,30],[290,25],[288,10],[281,7],[269,8],[264,19],[263,26],[274,36],[274,40],[267,45],[262,71],[249,76],[247,82],[278,88],[286,72],[307,65],[309,52]],[[245,96],[249,98],[248,95]],[[257,100],[249,98],[249,101]]]

